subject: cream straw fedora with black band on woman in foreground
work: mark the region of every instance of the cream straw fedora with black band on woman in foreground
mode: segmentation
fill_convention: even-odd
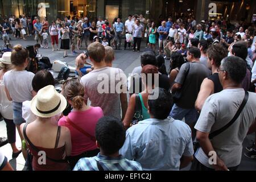
[[[67,107],[67,100],[55,90],[53,85],[48,85],[38,91],[30,107],[35,115],[48,118],[62,113]]]

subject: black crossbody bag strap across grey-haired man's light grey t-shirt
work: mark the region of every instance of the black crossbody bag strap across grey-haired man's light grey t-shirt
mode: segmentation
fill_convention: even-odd
[[[223,126],[221,129],[218,129],[216,131],[213,131],[213,133],[209,134],[209,139],[212,140],[214,137],[216,137],[217,135],[221,134],[223,131],[225,131],[226,129],[228,129],[239,117],[239,115],[241,114],[243,108],[245,107],[247,101],[248,101],[248,97],[249,97],[249,92],[245,92],[245,97],[243,98],[242,104],[240,105],[239,109],[237,110],[237,113],[234,115],[234,117],[231,119],[230,122],[228,122],[225,126]],[[197,149],[200,147],[200,143],[196,140],[195,142],[193,142],[193,148],[194,151],[196,152]]]

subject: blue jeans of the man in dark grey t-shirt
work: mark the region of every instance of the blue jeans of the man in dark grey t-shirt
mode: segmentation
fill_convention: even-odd
[[[174,106],[172,106],[170,117],[180,121],[183,118],[185,118],[185,123],[190,125],[190,124],[195,124],[197,122],[197,119],[199,118],[199,114],[197,113],[195,108],[183,109],[177,106],[176,104],[174,104]]]

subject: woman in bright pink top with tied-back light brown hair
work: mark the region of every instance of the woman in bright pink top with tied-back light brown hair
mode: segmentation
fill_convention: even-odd
[[[96,156],[100,150],[96,146],[95,127],[103,117],[101,107],[90,107],[84,102],[84,87],[76,79],[63,83],[63,96],[72,105],[73,110],[59,121],[71,132],[72,152],[68,161],[71,169],[81,158]]]

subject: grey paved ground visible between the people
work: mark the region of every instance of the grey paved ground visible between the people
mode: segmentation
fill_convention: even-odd
[[[0,45],[2,45],[3,42],[2,40],[0,41]],[[15,40],[15,38],[12,38],[11,40],[11,44],[15,45],[15,44],[21,44],[22,46],[28,46],[28,45],[34,45],[35,41],[32,38],[28,38],[28,40],[24,41],[24,40]],[[145,47],[145,43],[142,43],[142,51],[143,48]],[[83,50],[79,50],[77,51],[79,53],[82,53]],[[49,45],[48,49],[43,49],[41,48],[39,50],[39,53],[41,53],[43,56],[47,56],[49,57],[49,59],[53,62],[55,60],[61,60],[61,61],[65,61],[66,63],[68,63],[71,66],[75,65],[75,59],[77,55],[72,55],[71,51],[69,51],[68,53],[68,57],[66,57],[65,59],[63,58],[63,51],[55,51],[52,52],[51,50],[51,45]],[[115,61],[113,63],[113,67],[118,67],[121,68],[126,75],[128,76],[129,73],[131,73],[131,71],[133,70],[133,68],[138,67],[140,65],[140,55],[141,53],[138,52],[133,52],[131,50],[117,50],[115,51]],[[169,63],[168,61],[166,61],[166,66],[167,69],[169,68]],[[2,121],[0,122],[0,136],[1,137],[7,137],[6,134],[6,125],[5,122]],[[251,141],[254,140],[254,134],[249,135],[246,137],[245,141],[243,142],[243,153],[245,152],[245,146],[247,146],[248,144],[251,143]],[[18,132],[16,132],[16,145],[18,147],[21,147],[21,142],[19,139],[19,135]],[[9,159],[9,162],[11,163],[11,166],[13,166],[14,169],[21,171],[23,169],[26,169],[26,167],[24,167],[24,159],[22,154],[20,154],[18,156],[18,158],[16,159],[11,159],[11,146],[10,144],[6,144],[5,146],[0,148],[0,151],[2,151],[7,158]],[[246,158],[244,155],[242,155],[242,161],[241,161],[241,165],[238,168],[239,170],[256,170],[256,160],[252,160],[252,159],[248,159]],[[189,170],[189,167],[185,168],[184,170]]]

